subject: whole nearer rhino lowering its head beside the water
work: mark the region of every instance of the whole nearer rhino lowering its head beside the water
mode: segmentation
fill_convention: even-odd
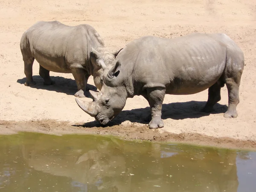
[[[76,99],[79,107],[102,125],[135,95],[148,100],[149,128],[164,125],[161,111],[165,94],[189,95],[209,88],[203,111],[210,112],[220,101],[224,84],[229,98],[224,117],[237,117],[244,54],[225,34],[193,33],[174,39],[145,36],[129,43],[112,64],[103,74],[102,90],[90,91],[93,102]]]

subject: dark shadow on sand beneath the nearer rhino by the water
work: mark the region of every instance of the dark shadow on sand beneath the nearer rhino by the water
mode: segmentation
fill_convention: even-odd
[[[206,102],[199,101],[189,101],[189,102],[176,102],[163,104],[162,108],[162,119],[197,119],[203,116],[209,116],[210,114],[225,113],[227,111],[227,105],[215,104],[214,111],[211,113],[200,112],[204,107]],[[73,126],[83,126],[86,128],[93,127],[106,127],[120,125],[124,121],[137,122],[142,124],[148,124],[151,119],[147,117],[150,114],[150,108],[138,108],[132,110],[121,111],[118,116],[116,116],[113,121],[109,122],[108,125],[101,125],[97,121],[87,122],[84,125],[73,125]]]

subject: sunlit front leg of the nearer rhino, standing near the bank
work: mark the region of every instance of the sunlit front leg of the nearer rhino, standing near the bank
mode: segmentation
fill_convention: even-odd
[[[151,110],[151,121],[149,122],[150,129],[162,128],[162,104],[165,96],[165,89],[161,87],[148,88],[148,101]]]

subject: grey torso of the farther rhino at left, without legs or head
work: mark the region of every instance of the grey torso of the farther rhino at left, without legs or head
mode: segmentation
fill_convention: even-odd
[[[40,65],[49,71],[71,73],[70,67],[83,68],[87,64],[88,35],[93,36],[96,31],[86,24],[67,26],[58,21],[40,21],[24,34],[32,55]],[[92,46],[104,44],[97,37],[89,40]]]

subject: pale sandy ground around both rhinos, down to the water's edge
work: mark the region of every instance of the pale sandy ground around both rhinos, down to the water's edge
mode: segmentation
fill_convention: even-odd
[[[144,35],[175,38],[192,32],[224,32],[236,41],[245,56],[237,108],[239,116],[236,119],[223,117],[228,101],[224,87],[222,99],[211,114],[199,112],[207,101],[207,90],[189,96],[166,95],[163,105],[165,127],[148,130],[148,122],[143,120],[149,113],[148,103],[142,96],[135,96],[127,100],[111,127],[100,128],[93,122],[94,118],[76,104],[73,96],[76,84],[72,74],[51,72],[56,84],[44,86],[35,61],[33,75],[37,84],[24,86],[20,38],[38,20],[58,20],[72,26],[90,24],[111,51]],[[227,146],[256,148],[256,1],[1,0],[0,23],[1,133],[23,130],[65,134],[102,130],[119,136],[128,134],[128,139],[157,140],[153,138],[161,135],[162,139],[158,140],[180,142],[176,136],[185,135],[189,142],[197,144],[213,138],[216,145],[227,143]],[[89,84],[94,85],[91,77]],[[46,129],[41,130],[41,127]]]

